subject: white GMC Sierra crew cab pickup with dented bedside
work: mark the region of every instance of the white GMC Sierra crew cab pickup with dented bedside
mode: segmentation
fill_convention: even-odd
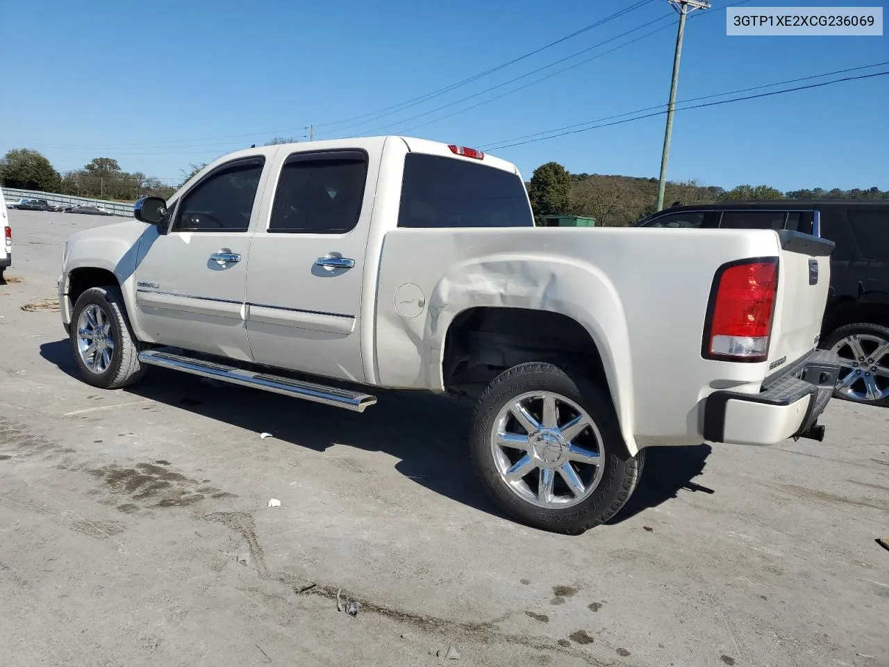
[[[613,517],[647,446],[823,435],[829,241],[535,228],[514,165],[397,136],[232,153],[135,218],[65,245],[85,382],[164,366],[358,412],[375,388],[475,399],[478,477],[532,526]]]

